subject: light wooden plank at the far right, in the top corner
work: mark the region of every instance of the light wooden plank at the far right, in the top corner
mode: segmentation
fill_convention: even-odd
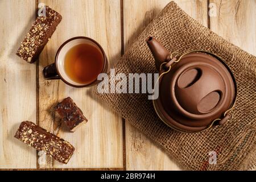
[[[210,29],[256,56],[256,1],[210,0],[210,3],[216,7],[216,16],[210,16]]]

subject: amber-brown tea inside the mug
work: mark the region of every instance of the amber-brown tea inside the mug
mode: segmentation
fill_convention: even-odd
[[[77,44],[65,55],[64,69],[71,80],[79,84],[90,84],[97,80],[104,69],[104,55],[91,44]]]

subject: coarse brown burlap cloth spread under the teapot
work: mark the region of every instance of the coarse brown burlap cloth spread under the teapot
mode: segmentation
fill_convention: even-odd
[[[99,94],[127,122],[137,127],[184,168],[194,170],[250,169],[256,161],[256,57],[214,34],[192,19],[176,3],[169,3],[115,65],[117,73],[156,73],[146,38],[154,36],[170,51],[204,49],[221,56],[236,77],[237,104],[233,119],[200,133],[179,133],[155,114],[147,94]],[[216,151],[217,164],[209,164]]]

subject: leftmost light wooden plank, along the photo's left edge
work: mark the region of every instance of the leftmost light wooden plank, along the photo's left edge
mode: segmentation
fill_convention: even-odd
[[[0,168],[36,168],[36,150],[14,134],[36,122],[36,65],[15,55],[35,20],[35,1],[0,1]]]

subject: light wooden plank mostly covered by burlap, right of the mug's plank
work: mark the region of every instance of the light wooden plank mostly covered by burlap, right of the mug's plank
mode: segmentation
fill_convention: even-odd
[[[169,0],[124,0],[125,49],[169,2]],[[189,15],[207,26],[207,1],[180,0],[175,2]],[[181,168],[167,155],[166,151],[126,123],[126,169],[179,170]]]

